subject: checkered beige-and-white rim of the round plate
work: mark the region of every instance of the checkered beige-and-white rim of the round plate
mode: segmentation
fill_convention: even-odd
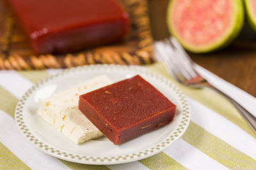
[[[24,122],[24,105],[27,102],[28,97],[30,97],[33,92],[35,92],[37,89],[39,89],[44,83],[47,83],[53,79],[56,79],[61,76],[65,76],[67,74],[72,74],[77,71],[86,71],[86,70],[93,70],[93,69],[122,69],[125,71],[135,71],[138,74],[146,74],[147,76],[150,76],[152,78],[157,78],[159,81],[164,83],[165,85],[168,85],[173,92],[177,94],[177,99],[179,99],[180,102],[180,114],[182,118],[180,119],[179,124],[175,127],[175,131],[168,134],[167,138],[164,138],[160,142],[158,142],[155,145],[152,145],[148,148],[139,150],[136,153],[129,153],[127,155],[117,155],[113,157],[109,156],[92,156],[92,155],[81,155],[77,153],[70,153],[61,151],[60,149],[51,146],[44,141],[40,141],[40,139],[37,139],[35,136],[32,135],[31,130],[27,127],[26,123]],[[110,165],[110,164],[122,164],[127,162],[133,162],[136,160],[145,159],[147,157],[150,157],[152,155],[155,155],[161,151],[164,150],[164,148],[167,148],[168,146],[172,145],[174,141],[179,139],[186,129],[188,128],[189,122],[190,122],[190,107],[188,104],[188,100],[186,99],[186,96],[183,94],[183,92],[170,80],[167,78],[164,78],[160,74],[152,73],[150,70],[140,67],[140,66],[121,66],[121,65],[114,65],[114,64],[95,64],[90,66],[79,66],[79,67],[72,67],[70,69],[65,69],[61,73],[57,73],[52,76],[48,76],[37,83],[33,85],[30,89],[28,89],[24,95],[20,98],[19,102],[17,103],[17,106],[15,108],[15,122],[19,127],[20,132],[23,134],[23,136],[36,148],[41,150],[44,153],[47,153],[49,155],[52,155],[53,157],[57,157],[63,160],[68,160],[70,162],[76,162],[80,164],[92,164],[92,165]]]

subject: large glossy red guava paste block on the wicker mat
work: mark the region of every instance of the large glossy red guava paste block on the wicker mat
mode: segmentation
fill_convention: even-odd
[[[129,18],[115,0],[6,0],[39,54],[65,53],[118,41]]]

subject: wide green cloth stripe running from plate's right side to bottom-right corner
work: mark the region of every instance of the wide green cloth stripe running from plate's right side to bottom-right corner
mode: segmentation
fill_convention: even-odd
[[[205,131],[192,121],[182,139],[229,169],[251,169],[256,166],[256,160]]]

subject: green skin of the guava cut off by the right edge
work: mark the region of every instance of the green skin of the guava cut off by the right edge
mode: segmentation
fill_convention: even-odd
[[[253,14],[252,4],[250,0],[244,0],[246,11],[246,23],[256,32],[256,15]]]

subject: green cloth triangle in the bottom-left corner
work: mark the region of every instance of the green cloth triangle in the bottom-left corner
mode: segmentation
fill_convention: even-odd
[[[0,143],[0,169],[30,169],[16,157],[3,143]]]

